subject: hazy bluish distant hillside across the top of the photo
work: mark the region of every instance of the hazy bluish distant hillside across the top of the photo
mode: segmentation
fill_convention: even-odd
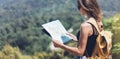
[[[120,11],[118,1],[98,0],[104,16]],[[78,12],[76,0],[0,0],[0,25],[3,25],[3,22],[8,23],[25,17],[41,18],[66,12]]]

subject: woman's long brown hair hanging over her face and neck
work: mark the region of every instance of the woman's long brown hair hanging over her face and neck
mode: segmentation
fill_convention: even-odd
[[[100,7],[96,0],[77,0],[78,9],[83,8],[87,15],[100,20],[102,18]]]

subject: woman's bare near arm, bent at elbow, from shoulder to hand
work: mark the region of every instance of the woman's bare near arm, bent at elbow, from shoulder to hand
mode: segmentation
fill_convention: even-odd
[[[84,51],[85,51],[85,48],[86,48],[87,39],[88,39],[88,36],[90,34],[90,29],[91,29],[90,24],[88,24],[88,23],[81,24],[80,40],[79,40],[77,48],[61,44],[61,43],[59,43],[57,41],[54,41],[54,40],[53,40],[53,43],[56,47],[60,47],[60,48],[66,50],[68,52],[71,52],[75,55],[82,56],[84,54]]]

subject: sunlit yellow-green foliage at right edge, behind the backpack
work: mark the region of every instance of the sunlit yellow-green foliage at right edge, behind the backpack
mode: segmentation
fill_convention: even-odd
[[[113,33],[113,59],[119,59],[120,55],[120,14],[117,14],[110,18],[104,18],[104,28],[110,30]]]

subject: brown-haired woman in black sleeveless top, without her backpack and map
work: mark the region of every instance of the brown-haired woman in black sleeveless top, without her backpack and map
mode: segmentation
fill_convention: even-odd
[[[97,22],[99,29],[102,30],[102,22],[101,22],[102,13],[97,1],[77,0],[77,2],[78,2],[79,12],[82,15],[87,16],[86,21],[89,19],[94,19]],[[77,38],[72,34],[67,34],[71,36],[73,40],[78,40],[77,47],[70,47],[64,45],[59,41],[54,40],[53,38],[54,46],[62,48],[70,53],[75,54],[76,56],[78,56],[77,57],[78,59],[82,58],[82,56],[91,57],[93,49],[95,47],[95,42],[98,32],[92,24],[86,21],[81,24],[80,32]]]

